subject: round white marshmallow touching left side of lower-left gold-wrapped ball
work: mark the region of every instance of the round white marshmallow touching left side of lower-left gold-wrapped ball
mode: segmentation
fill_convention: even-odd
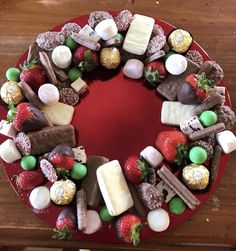
[[[48,208],[51,205],[49,189],[45,186],[35,187],[30,193],[29,201],[34,209]]]

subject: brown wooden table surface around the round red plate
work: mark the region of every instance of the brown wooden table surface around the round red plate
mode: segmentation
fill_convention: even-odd
[[[194,38],[224,69],[233,108],[236,106],[235,0],[0,0],[0,79],[38,33],[94,10],[129,9],[164,19]],[[236,109],[235,109],[236,110]],[[178,229],[143,243],[136,250],[228,250],[236,248],[236,154],[211,199]],[[51,240],[51,229],[18,199],[0,168],[0,247],[40,246],[132,250],[126,245],[99,245],[79,240]]]

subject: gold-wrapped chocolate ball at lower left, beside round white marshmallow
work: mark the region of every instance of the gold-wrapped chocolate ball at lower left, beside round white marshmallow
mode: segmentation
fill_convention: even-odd
[[[57,205],[68,205],[75,196],[76,185],[73,181],[59,180],[50,188],[51,200]]]

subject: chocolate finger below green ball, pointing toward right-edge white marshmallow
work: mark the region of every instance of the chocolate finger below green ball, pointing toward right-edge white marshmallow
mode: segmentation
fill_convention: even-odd
[[[212,134],[221,132],[224,129],[225,129],[224,123],[217,123],[215,125],[206,127],[202,130],[195,131],[195,132],[189,134],[188,136],[189,136],[190,140],[195,141],[195,140],[206,138]]]

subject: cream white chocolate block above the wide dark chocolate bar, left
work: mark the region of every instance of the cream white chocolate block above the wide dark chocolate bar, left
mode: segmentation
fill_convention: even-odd
[[[61,102],[44,106],[41,111],[54,125],[69,125],[74,115],[74,107]]]

